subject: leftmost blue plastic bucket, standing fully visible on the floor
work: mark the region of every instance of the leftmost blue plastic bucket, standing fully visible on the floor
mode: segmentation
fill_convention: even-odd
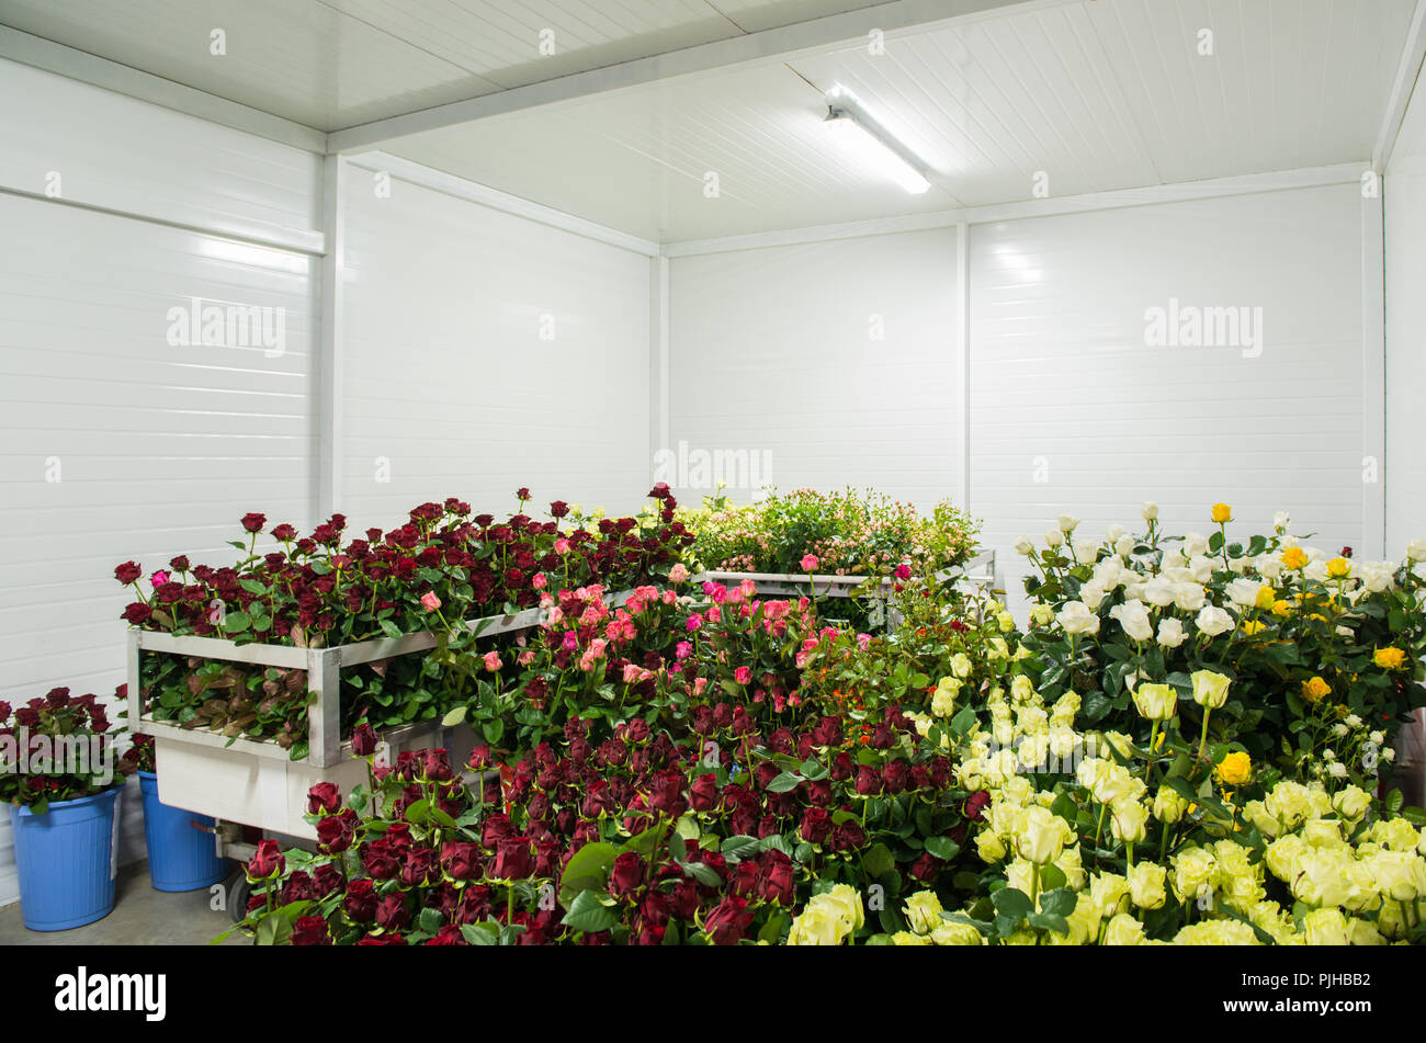
[[[20,918],[30,930],[81,928],[114,910],[118,794],[60,801],[44,815],[10,806]]]

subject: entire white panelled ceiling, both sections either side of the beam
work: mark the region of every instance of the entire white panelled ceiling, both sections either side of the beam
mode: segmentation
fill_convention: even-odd
[[[0,0],[0,24],[331,131],[877,3]],[[1415,6],[1027,0],[888,31],[880,54],[776,54],[382,148],[663,242],[1028,199],[1037,172],[1064,197],[1356,162]],[[539,57],[546,27],[556,54]],[[836,84],[934,171],[930,192],[847,165],[819,125]]]

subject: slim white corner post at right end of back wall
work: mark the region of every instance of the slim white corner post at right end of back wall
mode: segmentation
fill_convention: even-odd
[[[1385,559],[1386,547],[1386,254],[1382,178],[1362,192],[1362,547]],[[1390,549],[1400,554],[1403,547]]]

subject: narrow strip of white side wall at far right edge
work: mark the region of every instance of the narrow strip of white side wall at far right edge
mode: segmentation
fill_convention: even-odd
[[[1383,184],[1386,205],[1386,553],[1426,539],[1426,90],[1417,85]]]

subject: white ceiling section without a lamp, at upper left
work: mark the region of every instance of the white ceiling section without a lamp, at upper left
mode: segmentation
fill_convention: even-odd
[[[0,24],[332,131],[877,3],[0,0]]]

